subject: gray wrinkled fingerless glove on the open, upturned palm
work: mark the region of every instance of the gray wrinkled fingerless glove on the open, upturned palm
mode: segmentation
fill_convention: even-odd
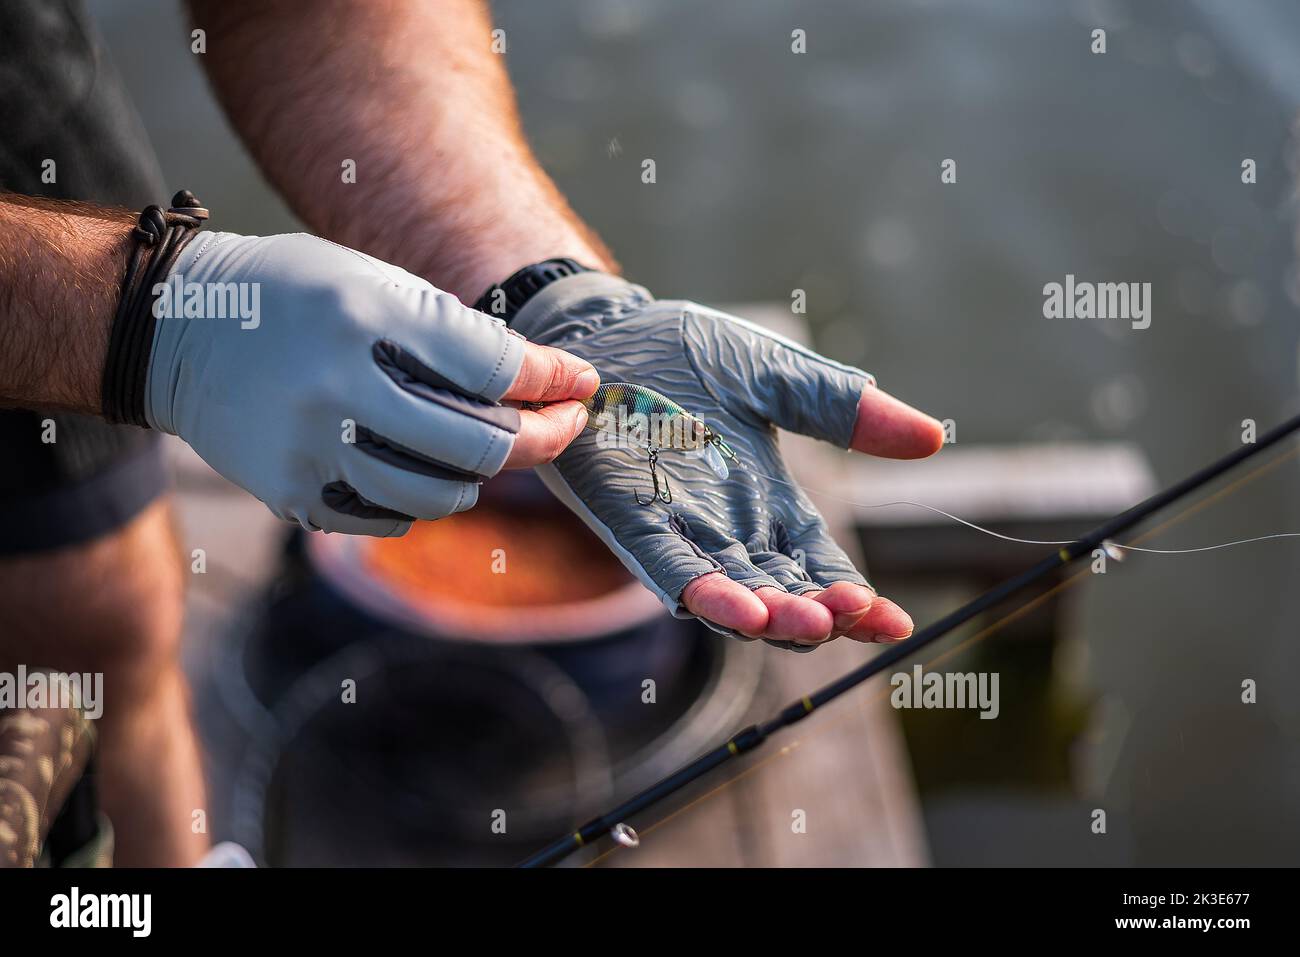
[[[774,426],[848,447],[871,376],[745,320],[690,302],[656,300],[604,273],[552,282],[524,304],[511,328],[582,356],[604,382],[662,393],[734,449],[740,464],[727,478],[699,456],[662,452],[658,468],[672,502],[647,506],[636,501],[650,490],[646,455],[611,449],[594,432],[538,468],[551,492],[673,615],[692,618],[680,602],[682,589],[707,572],[792,594],[835,581],[866,584],[793,484]]]

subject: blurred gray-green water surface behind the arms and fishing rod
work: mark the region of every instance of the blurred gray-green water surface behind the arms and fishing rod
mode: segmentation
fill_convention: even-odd
[[[294,229],[217,111],[181,5],[92,9],[168,181],[214,228]],[[953,417],[961,442],[1131,439],[1161,484],[1236,447],[1243,419],[1262,430],[1300,404],[1292,0],[494,12],[543,164],[659,295],[805,289],[822,350]],[[948,157],[956,185],[940,183]],[[1150,282],[1150,328],[1045,320],[1043,286],[1066,273]],[[1300,531],[1295,462],[1153,544],[1282,531]],[[1113,752],[1098,806],[1124,822],[1123,859],[1300,857],[1297,572],[1284,540],[1136,559],[1087,589],[1070,667],[1122,714],[1095,744]],[[1258,705],[1239,701],[1247,677]],[[1018,801],[979,859],[1017,859]],[[971,861],[945,846],[937,862]]]

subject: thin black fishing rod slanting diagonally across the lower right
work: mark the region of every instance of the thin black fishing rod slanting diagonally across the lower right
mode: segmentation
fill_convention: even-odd
[[[1300,415],[1296,415],[1270,432],[1264,433],[1258,437],[1258,441],[1254,445],[1242,446],[1217,462],[1210,463],[1199,472],[1193,472],[1180,482],[1169,486],[1164,492],[1157,492],[1144,502],[1139,502],[1127,511],[1104,521],[1092,532],[1088,532],[1082,538],[1076,538],[1069,545],[1058,549],[1034,567],[1027,568],[1011,579],[1008,579],[1000,585],[994,585],[967,605],[949,612],[933,624],[922,628],[906,641],[900,641],[896,645],[888,645],[880,654],[866,664],[846,672],[819,690],[803,696],[768,720],[760,724],[750,724],[744,731],[736,732],[727,740],[725,744],[719,745],[706,754],[701,754],[685,767],[673,771],[667,778],[651,784],[649,788],[634,797],[628,798],[618,807],[614,807],[598,818],[593,818],[572,833],[559,837],[552,844],[549,844],[529,857],[526,861],[523,861],[519,866],[546,867],[549,865],[559,863],[569,854],[575,853],[580,848],[590,845],[604,835],[614,835],[620,844],[634,845],[637,840],[634,836],[636,832],[632,831],[632,828],[625,823],[634,814],[640,814],[670,794],[681,791],[688,784],[703,778],[719,765],[724,765],[728,761],[738,758],[741,754],[754,750],[771,735],[803,720],[816,709],[835,701],[841,694],[853,690],[867,679],[879,675],[892,664],[897,664],[914,651],[937,641],[954,628],[966,624],[976,615],[1000,605],[1020,589],[1028,588],[1040,579],[1050,575],[1053,571],[1070,564],[1083,555],[1091,554],[1095,549],[1109,546],[1112,544],[1110,540],[1117,534],[1122,534],[1139,523],[1145,521],[1148,518],[1169,505],[1195,492],[1202,485],[1214,481],[1225,472],[1228,472],[1247,459],[1258,455],[1265,449],[1270,449],[1277,445],[1297,429],[1300,429]]]

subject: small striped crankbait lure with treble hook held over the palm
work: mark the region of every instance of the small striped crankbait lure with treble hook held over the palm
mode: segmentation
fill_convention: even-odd
[[[671,449],[701,455],[719,478],[731,475],[727,459],[740,464],[722,436],[654,389],[630,382],[606,382],[582,404],[588,411],[586,428],[612,436],[616,446],[646,450],[654,494],[646,499],[636,495],[638,505],[650,505],[655,499],[664,505],[672,502],[668,480],[659,476],[662,451]]]

